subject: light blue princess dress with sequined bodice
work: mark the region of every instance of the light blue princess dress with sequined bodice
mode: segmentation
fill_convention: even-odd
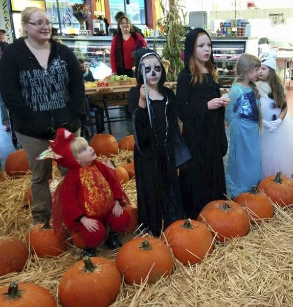
[[[228,94],[225,118],[229,125],[226,164],[227,195],[250,191],[262,179],[258,104],[252,87],[239,83]]]

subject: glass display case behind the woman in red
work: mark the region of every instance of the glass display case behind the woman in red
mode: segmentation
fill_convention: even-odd
[[[83,58],[95,79],[103,79],[111,74],[110,49],[112,36],[55,36],[62,40],[77,56]],[[153,37],[147,38],[150,48],[153,48]],[[160,53],[165,39],[156,38],[156,49]]]

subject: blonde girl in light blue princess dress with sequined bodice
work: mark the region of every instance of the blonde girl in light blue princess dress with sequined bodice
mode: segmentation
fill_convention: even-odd
[[[259,92],[255,85],[260,59],[243,53],[236,63],[237,77],[228,94],[227,133],[230,137],[226,169],[227,195],[233,199],[262,180]]]

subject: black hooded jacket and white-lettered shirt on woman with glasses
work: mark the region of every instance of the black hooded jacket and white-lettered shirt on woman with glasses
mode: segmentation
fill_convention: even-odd
[[[79,62],[68,47],[50,42],[47,70],[24,38],[7,46],[0,59],[0,91],[14,130],[40,139],[52,139],[58,127],[76,131],[85,106]]]

